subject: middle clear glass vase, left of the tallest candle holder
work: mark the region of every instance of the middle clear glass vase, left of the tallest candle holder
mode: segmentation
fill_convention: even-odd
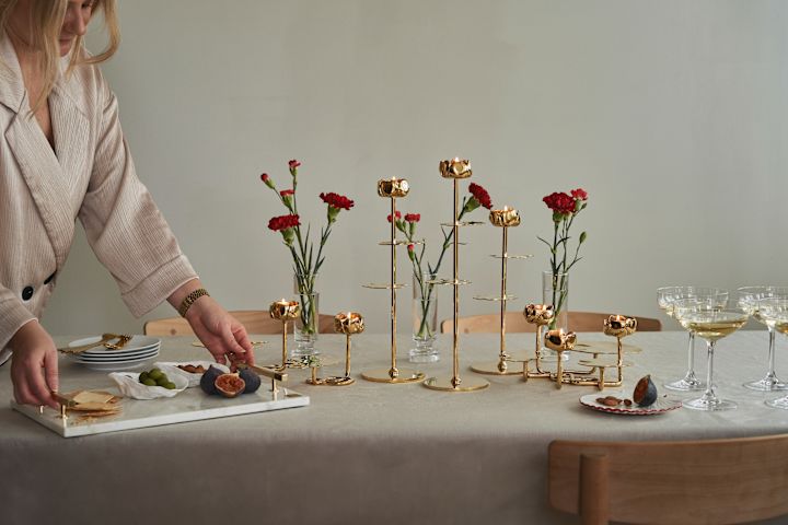
[[[413,363],[433,363],[440,359],[438,353],[438,287],[429,284],[430,278],[413,277],[413,342],[408,353]]]

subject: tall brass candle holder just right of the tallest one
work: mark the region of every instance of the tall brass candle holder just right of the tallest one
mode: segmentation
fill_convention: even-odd
[[[509,259],[528,259],[532,256],[509,254],[509,229],[520,225],[520,212],[518,210],[515,210],[514,208],[509,208],[508,206],[505,206],[500,210],[490,210],[489,221],[494,226],[500,228],[503,232],[501,240],[501,254],[491,256],[501,259],[501,291],[500,295],[475,296],[474,299],[477,301],[497,301],[500,303],[500,348],[497,362],[474,363],[471,365],[471,370],[479,374],[491,375],[520,374],[519,370],[509,369],[509,362],[513,360],[511,359],[511,355],[507,353],[506,348],[507,301],[513,301],[517,299],[514,295],[507,294],[507,264]],[[528,361],[528,359],[523,359],[523,361]]]

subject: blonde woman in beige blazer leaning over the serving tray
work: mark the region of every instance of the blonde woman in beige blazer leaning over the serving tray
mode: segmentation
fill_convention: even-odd
[[[103,11],[108,46],[82,36]],[[55,343],[38,324],[77,218],[140,316],[166,300],[219,362],[254,360],[246,330],[213,301],[139,182],[117,102],[96,63],[117,49],[115,0],[0,0],[0,349],[18,402],[57,407]]]

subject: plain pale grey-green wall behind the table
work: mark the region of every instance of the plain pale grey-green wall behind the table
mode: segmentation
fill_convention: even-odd
[[[266,228],[282,209],[258,176],[285,187],[293,158],[315,228],[321,191],[356,200],[328,245],[321,310],[359,310],[374,331],[389,315],[387,294],[361,288],[389,276],[375,183],[409,179],[401,206],[422,213],[437,245],[451,217],[437,166],[454,155],[471,159],[495,203],[523,215],[510,252],[535,257],[510,265],[522,298],[512,308],[541,299],[547,250],[536,235],[552,233],[542,197],[578,186],[590,205],[575,233],[589,241],[572,310],[659,316],[659,285],[788,283],[788,2],[119,3],[123,45],[103,69],[139,176],[228,308],[267,308],[291,292],[289,253]],[[464,233],[462,277],[474,284],[463,314],[495,312],[471,298],[496,292],[488,254],[499,235]],[[165,304],[148,318],[172,315]],[[142,320],[79,237],[47,328],[140,331]]]

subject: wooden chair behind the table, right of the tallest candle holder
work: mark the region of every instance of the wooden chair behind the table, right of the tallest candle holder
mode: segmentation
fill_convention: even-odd
[[[572,331],[602,331],[602,323],[611,314],[595,312],[569,312],[569,329]],[[662,323],[650,317],[638,317],[639,331],[661,331]],[[525,320],[522,312],[506,313],[507,332],[536,331],[535,325]],[[471,315],[461,317],[457,326],[462,334],[495,334],[500,330],[500,314]],[[453,319],[441,323],[441,332],[451,334],[454,329]]]

